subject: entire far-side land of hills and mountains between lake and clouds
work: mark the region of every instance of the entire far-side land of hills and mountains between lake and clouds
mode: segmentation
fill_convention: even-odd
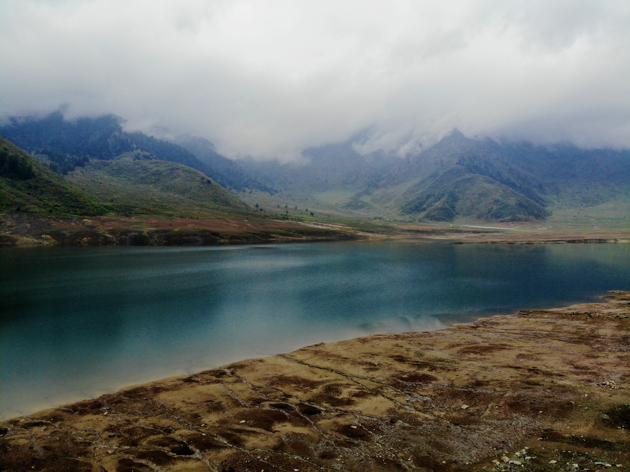
[[[202,138],[126,133],[113,116],[15,118],[0,134],[30,152],[2,142],[1,244],[477,240],[471,230],[484,227],[501,228],[503,242],[625,240],[630,231],[628,150],[454,130],[406,157],[362,155],[346,142],[282,164],[227,159]],[[33,217],[42,221],[23,223]],[[238,235],[227,220],[241,222]]]

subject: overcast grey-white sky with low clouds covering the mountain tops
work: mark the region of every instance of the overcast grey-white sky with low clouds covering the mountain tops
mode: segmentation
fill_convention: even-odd
[[[113,113],[229,157],[630,147],[627,0],[2,0],[0,45],[0,118]]]

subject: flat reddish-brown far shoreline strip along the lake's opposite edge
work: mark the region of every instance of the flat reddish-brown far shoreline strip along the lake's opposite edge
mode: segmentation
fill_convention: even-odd
[[[159,216],[50,217],[0,215],[6,246],[205,246],[278,242],[437,240],[452,244],[630,244],[630,230],[532,230],[436,226],[426,223],[311,222],[272,218],[165,218]]]

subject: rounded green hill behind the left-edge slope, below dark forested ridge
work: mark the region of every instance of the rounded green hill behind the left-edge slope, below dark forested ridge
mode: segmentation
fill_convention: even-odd
[[[111,160],[91,159],[69,172],[67,179],[118,213],[217,216],[248,209],[202,172],[142,151]]]

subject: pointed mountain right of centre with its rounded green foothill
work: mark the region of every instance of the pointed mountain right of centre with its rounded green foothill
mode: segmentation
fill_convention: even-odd
[[[403,193],[401,213],[449,222],[457,216],[526,222],[550,214],[544,208],[547,190],[539,179],[493,140],[472,140],[455,131],[392,169],[382,186],[427,172],[431,173]]]

